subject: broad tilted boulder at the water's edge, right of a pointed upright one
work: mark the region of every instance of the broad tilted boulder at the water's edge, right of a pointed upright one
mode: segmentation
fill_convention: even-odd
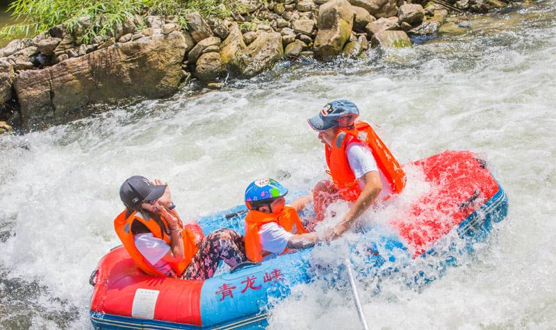
[[[284,57],[280,33],[261,32],[247,47],[249,64],[245,67],[245,76],[254,76],[274,65]]]

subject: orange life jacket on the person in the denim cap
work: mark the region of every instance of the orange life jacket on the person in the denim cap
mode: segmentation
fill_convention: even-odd
[[[355,201],[361,194],[361,187],[359,187],[347,160],[347,146],[354,142],[363,142],[369,147],[377,162],[377,167],[390,183],[392,192],[395,194],[402,192],[406,177],[398,160],[395,160],[390,150],[369,124],[356,122],[354,129],[341,129],[338,132],[332,147],[325,146],[328,173],[332,176],[332,181],[338,188],[342,199]]]

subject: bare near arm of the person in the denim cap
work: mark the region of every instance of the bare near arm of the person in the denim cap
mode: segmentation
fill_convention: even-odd
[[[359,215],[367,211],[375,203],[375,200],[382,191],[382,183],[380,182],[378,171],[367,172],[361,177],[361,180],[365,183],[363,190],[361,190],[361,195],[354,202],[350,211],[347,211],[344,215],[343,220],[332,229],[332,233],[327,236],[327,240],[338,238],[347,229],[350,229],[350,226],[357,220]]]

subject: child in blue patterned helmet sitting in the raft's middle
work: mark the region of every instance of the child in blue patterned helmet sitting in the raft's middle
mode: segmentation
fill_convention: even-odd
[[[250,261],[265,261],[320,241],[316,232],[307,233],[297,215],[311,196],[286,205],[287,193],[274,179],[255,180],[247,186],[245,204],[250,211],[245,217],[245,252]]]

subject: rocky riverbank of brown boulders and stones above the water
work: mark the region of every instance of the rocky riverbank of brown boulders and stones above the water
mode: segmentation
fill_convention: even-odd
[[[410,0],[411,1],[411,0]],[[141,98],[168,97],[197,79],[251,77],[279,60],[357,57],[369,47],[409,47],[414,35],[464,33],[446,17],[502,8],[499,0],[285,0],[245,2],[228,19],[134,15],[108,38],[79,44],[83,28],[54,26],[0,49],[0,133],[41,129]],[[87,17],[80,19],[86,27]]]

